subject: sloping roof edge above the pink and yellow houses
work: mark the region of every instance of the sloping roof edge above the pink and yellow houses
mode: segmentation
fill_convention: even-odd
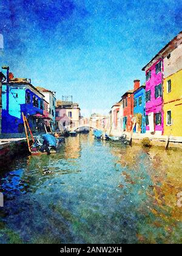
[[[171,52],[172,50],[174,50],[175,48],[177,48],[177,42],[180,41],[180,44],[182,43],[182,31],[176,36],[174,37],[171,41],[169,41],[169,43],[167,43],[159,52],[158,54],[156,54],[152,60],[150,60],[150,62],[148,62],[141,70],[145,70],[147,68],[147,66],[149,66],[149,64],[151,62],[153,62],[154,60],[159,59],[160,57],[162,57],[162,55],[164,54],[164,52],[167,50],[168,46],[169,46],[169,52]]]

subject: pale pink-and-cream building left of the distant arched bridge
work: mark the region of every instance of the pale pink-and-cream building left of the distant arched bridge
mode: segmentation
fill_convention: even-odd
[[[81,118],[78,103],[72,101],[56,101],[56,130],[65,130],[79,125]]]

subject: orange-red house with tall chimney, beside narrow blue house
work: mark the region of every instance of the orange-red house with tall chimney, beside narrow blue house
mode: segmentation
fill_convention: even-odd
[[[140,87],[140,80],[134,80],[134,89],[129,90],[122,96],[123,101],[123,130],[130,132],[132,130],[132,118],[133,118],[133,105],[134,94],[133,92]]]

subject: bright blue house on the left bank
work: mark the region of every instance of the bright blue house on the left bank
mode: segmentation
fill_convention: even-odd
[[[44,95],[27,79],[2,84],[2,133],[22,133],[22,112],[33,132],[44,130]]]

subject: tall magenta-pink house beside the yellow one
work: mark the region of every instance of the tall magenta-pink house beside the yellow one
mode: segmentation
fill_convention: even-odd
[[[164,132],[163,58],[156,55],[142,69],[146,71],[146,132]]]

